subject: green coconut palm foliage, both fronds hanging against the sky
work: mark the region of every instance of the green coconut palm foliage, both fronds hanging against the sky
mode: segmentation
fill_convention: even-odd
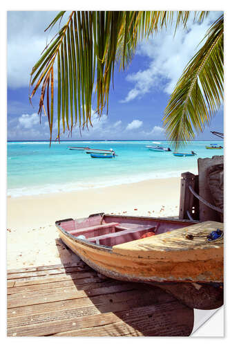
[[[194,12],[202,22],[207,11]],[[55,26],[64,11],[50,23]],[[48,116],[50,140],[54,122],[54,69],[57,70],[57,138],[60,125],[72,132],[92,125],[92,97],[96,112],[108,111],[108,95],[115,64],[124,70],[137,43],[168,26],[182,25],[190,11],[73,11],[67,23],[46,46],[31,72],[30,100],[40,90],[39,114]],[[46,100],[45,100],[46,98]],[[223,16],[209,29],[200,51],[186,66],[175,86],[164,115],[166,135],[175,145],[191,140],[202,131],[220,107],[223,98]]]

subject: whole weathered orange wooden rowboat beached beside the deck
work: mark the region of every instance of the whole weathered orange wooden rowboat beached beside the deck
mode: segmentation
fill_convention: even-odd
[[[223,282],[223,239],[207,239],[222,230],[219,222],[98,214],[55,224],[64,244],[107,277],[146,283]]]

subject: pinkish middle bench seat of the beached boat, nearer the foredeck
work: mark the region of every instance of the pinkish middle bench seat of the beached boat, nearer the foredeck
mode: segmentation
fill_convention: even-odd
[[[123,230],[118,232],[99,235],[98,237],[88,238],[87,240],[88,242],[93,242],[99,245],[114,246],[140,239],[144,233],[149,231],[154,232],[155,228],[155,226],[150,225],[138,225],[135,228],[123,228]]]

